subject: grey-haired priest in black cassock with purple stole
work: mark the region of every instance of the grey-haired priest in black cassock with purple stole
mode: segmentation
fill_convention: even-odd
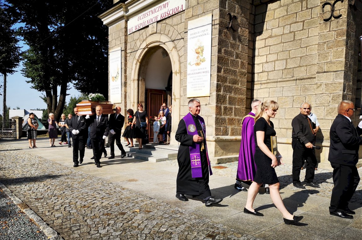
[[[222,198],[211,196],[209,174],[212,175],[206,146],[206,125],[199,116],[200,101],[189,101],[189,113],[178,124],[176,140],[180,142],[177,162],[176,197],[188,201],[185,195],[205,201],[205,206],[221,202]]]

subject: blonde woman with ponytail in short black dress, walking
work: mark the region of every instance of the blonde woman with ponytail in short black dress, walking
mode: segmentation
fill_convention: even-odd
[[[244,208],[244,213],[256,216],[264,216],[253,209],[253,202],[262,184],[269,184],[270,197],[274,205],[283,214],[285,224],[293,224],[302,220],[303,216],[293,216],[285,208],[282,197],[279,193],[279,179],[275,173],[275,167],[283,164],[282,156],[277,152],[275,156],[271,153],[270,137],[275,136],[274,124],[270,118],[277,114],[278,103],[268,100],[259,105],[255,116],[254,138],[255,154],[254,161],[257,167],[253,183],[249,187],[248,199]],[[279,160],[278,160],[279,159]]]

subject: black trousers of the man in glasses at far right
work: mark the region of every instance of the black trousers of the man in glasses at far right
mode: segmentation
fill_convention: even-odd
[[[333,184],[331,206],[329,211],[348,209],[348,201],[351,200],[359,183],[359,175],[356,166],[331,163],[333,167]]]

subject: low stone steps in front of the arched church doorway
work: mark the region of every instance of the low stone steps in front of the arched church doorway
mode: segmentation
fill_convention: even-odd
[[[177,159],[178,146],[174,145],[143,145],[142,149],[138,146],[131,147],[127,152],[127,157],[137,158],[150,162],[162,162]]]

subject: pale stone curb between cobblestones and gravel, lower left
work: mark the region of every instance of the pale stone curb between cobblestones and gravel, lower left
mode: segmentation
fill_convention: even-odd
[[[4,193],[16,204],[16,206],[23,211],[39,228],[45,233],[50,240],[64,240],[58,232],[49,227],[46,222],[43,221],[28,205],[22,202],[16,197],[3,183],[0,182],[0,188],[3,189]]]

